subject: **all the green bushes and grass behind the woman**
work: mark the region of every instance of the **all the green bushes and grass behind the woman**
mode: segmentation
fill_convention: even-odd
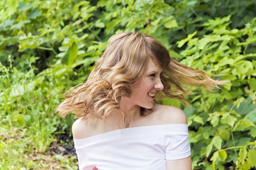
[[[179,62],[230,80],[191,87],[194,170],[256,170],[255,0],[1,0],[0,169],[78,169],[61,94],[84,81],[115,33],[158,38]]]

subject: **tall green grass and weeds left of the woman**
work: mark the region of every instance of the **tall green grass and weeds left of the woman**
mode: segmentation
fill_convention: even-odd
[[[35,75],[35,70],[0,64],[0,169],[76,170],[76,155],[51,149],[58,145],[56,134],[73,121],[54,112],[64,85],[46,73]]]

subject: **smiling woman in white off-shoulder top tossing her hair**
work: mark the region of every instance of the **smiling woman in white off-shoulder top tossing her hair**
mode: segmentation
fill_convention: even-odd
[[[116,34],[57,111],[78,118],[72,132],[80,170],[191,170],[184,112],[154,101],[186,104],[184,85],[212,90],[223,83],[178,63],[149,35]]]

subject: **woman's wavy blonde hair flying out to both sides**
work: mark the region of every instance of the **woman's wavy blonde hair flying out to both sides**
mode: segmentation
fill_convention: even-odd
[[[184,85],[203,86],[209,91],[225,84],[206,73],[187,67],[170,57],[169,51],[155,38],[141,33],[121,33],[111,37],[108,47],[99,58],[87,81],[64,94],[57,108],[60,115],[75,113],[77,118],[106,118],[117,113],[124,124],[125,114],[119,109],[122,96],[129,97],[132,87],[143,75],[149,59],[162,68],[164,89],[158,97],[179,99],[187,104],[190,94]],[[141,116],[150,110],[140,108]]]

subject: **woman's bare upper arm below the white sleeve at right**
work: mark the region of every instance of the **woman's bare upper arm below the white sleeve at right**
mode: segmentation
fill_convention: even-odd
[[[191,156],[177,160],[166,160],[166,170],[192,170]]]

